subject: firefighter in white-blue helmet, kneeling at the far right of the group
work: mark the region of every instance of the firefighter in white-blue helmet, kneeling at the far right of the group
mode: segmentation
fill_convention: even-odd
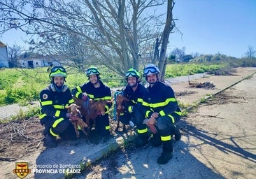
[[[166,164],[173,157],[173,141],[180,140],[180,132],[176,123],[180,120],[180,108],[174,96],[173,89],[159,81],[159,69],[155,64],[148,64],[143,70],[143,76],[149,83],[148,96],[143,99],[143,112],[148,117],[150,129],[155,126],[151,143],[153,146],[162,145],[162,155],[158,157],[158,164]]]

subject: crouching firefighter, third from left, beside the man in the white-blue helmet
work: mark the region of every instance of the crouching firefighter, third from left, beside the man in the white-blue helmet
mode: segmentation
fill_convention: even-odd
[[[120,116],[120,121],[123,124],[130,124],[136,126],[136,132],[138,138],[135,143],[137,146],[143,146],[148,142],[148,127],[144,123],[145,115],[141,113],[141,106],[143,98],[147,93],[147,90],[140,84],[140,74],[135,69],[129,69],[125,73],[127,80],[127,86],[123,90],[123,96],[129,101],[125,102],[125,113]]]

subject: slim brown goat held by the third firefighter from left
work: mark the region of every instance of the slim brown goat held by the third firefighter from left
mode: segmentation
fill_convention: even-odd
[[[115,131],[118,131],[120,127],[120,115],[125,112],[125,101],[129,101],[125,96],[122,95],[122,92],[115,93],[115,114],[116,115],[116,121],[118,122],[117,127],[115,128]],[[125,131],[125,124],[122,126],[122,131]]]

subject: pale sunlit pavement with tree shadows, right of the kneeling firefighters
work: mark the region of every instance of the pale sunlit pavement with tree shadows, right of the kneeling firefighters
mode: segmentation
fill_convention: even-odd
[[[218,93],[227,84],[235,83],[232,80],[239,79],[234,77],[248,74],[245,69],[238,71],[234,76],[213,76],[197,81],[216,81],[213,93]],[[186,86],[173,85],[173,89],[180,94],[185,89],[185,94],[177,98],[187,103],[200,101],[204,95],[212,93]],[[183,136],[174,143],[174,157],[166,165],[156,164],[161,148],[131,145],[93,164],[76,178],[253,179],[256,176],[255,90],[256,75],[216,94],[190,112],[180,121]]]

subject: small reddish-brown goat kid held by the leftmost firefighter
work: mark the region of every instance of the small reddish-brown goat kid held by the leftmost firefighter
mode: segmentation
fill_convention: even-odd
[[[76,131],[76,137],[79,137],[79,131],[78,131],[78,126],[81,128],[81,130],[83,131],[83,134],[85,134],[85,136],[87,136],[87,132],[85,131],[85,128],[87,127],[87,124],[85,124],[85,122],[83,122],[81,115],[80,115],[80,110],[78,110],[78,108],[81,108],[80,106],[77,106],[76,103],[71,103],[71,105],[69,105],[67,107],[68,109],[68,113],[71,113],[71,115],[73,115],[74,117],[76,117],[76,120],[71,120],[73,127]]]

